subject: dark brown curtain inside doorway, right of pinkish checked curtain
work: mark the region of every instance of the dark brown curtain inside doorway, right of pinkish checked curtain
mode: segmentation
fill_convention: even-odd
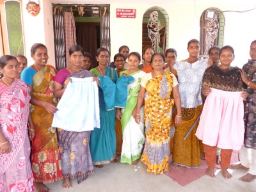
[[[76,24],[77,45],[81,45],[85,52],[92,55],[90,68],[97,67],[96,50],[97,50],[97,26]]]

